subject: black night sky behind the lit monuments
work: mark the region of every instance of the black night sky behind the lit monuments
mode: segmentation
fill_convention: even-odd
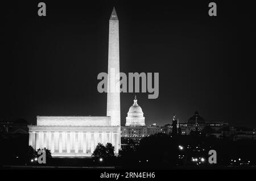
[[[106,115],[97,74],[107,71],[108,23],[119,18],[120,70],[159,72],[159,98],[138,94],[146,124],[206,120],[256,127],[255,19],[245,1],[2,3],[0,120]],[[121,125],[134,93],[121,94]]]

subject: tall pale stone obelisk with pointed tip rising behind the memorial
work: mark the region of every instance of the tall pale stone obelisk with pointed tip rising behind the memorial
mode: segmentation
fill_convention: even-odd
[[[107,116],[111,125],[120,123],[120,83],[119,83],[119,26],[117,12],[113,8],[109,19],[109,60],[108,60],[108,100]]]

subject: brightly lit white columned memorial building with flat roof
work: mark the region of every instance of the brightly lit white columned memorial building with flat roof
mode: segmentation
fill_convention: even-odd
[[[38,116],[29,126],[29,145],[48,148],[53,157],[85,157],[98,142],[119,148],[119,127],[110,125],[109,116]],[[115,149],[115,153],[117,153]]]

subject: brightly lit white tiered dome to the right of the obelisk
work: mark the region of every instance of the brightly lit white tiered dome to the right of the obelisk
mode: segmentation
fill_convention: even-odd
[[[133,106],[130,107],[129,112],[126,117],[126,126],[144,126],[145,117],[143,116],[143,111],[141,106],[137,103],[137,98],[135,96]]]

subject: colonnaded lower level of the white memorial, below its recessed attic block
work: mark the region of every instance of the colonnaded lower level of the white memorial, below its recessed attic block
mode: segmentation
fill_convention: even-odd
[[[47,148],[53,154],[92,154],[98,143],[111,142],[118,153],[118,132],[29,132],[29,145]]]

